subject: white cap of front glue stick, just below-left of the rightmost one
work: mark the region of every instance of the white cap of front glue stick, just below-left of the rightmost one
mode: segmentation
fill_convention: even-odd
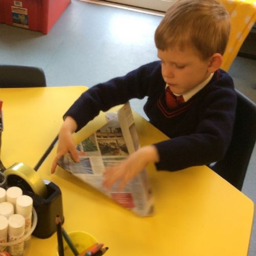
[[[23,236],[25,231],[25,218],[20,214],[14,214],[8,219],[8,234],[10,237]]]

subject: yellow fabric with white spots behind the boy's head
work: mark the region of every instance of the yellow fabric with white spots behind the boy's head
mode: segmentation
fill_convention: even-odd
[[[221,67],[228,71],[256,21],[256,0],[219,1],[225,5],[231,20],[231,33]]]

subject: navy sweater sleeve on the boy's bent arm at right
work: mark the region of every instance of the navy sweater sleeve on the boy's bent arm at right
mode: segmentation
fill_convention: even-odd
[[[231,140],[236,112],[236,93],[221,89],[206,96],[194,133],[156,143],[158,170],[180,170],[205,165],[224,157]]]

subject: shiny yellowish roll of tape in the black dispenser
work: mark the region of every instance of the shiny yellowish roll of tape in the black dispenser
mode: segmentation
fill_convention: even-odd
[[[47,197],[46,184],[40,178],[39,174],[30,166],[21,162],[15,163],[4,171],[4,175],[7,183],[8,178],[11,178],[12,175],[17,176],[30,186],[34,194],[42,198]]]

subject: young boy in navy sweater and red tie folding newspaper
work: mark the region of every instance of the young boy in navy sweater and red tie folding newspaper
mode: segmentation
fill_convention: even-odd
[[[108,167],[103,185],[118,188],[150,162],[158,170],[180,170],[220,160],[229,145],[236,109],[231,77],[220,69],[230,31],[229,15],[215,0],[175,1],[155,32],[161,61],[84,92],[65,114],[57,156],[79,161],[72,134],[112,106],[148,96],[144,111],[171,139],[141,147]],[[172,97],[171,94],[175,94]]]

